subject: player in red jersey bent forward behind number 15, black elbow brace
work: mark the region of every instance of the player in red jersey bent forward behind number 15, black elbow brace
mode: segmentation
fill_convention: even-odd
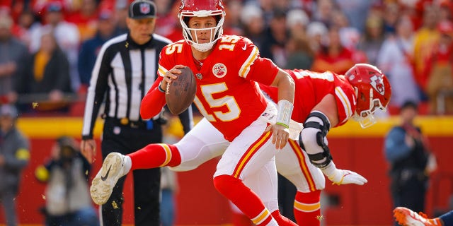
[[[275,155],[277,171],[297,187],[294,201],[297,223],[321,225],[320,194],[325,186],[324,175],[336,184],[363,185],[367,182],[360,174],[336,168],[326,134],[349,119],[358,121],[363,128],[372,126],[376,122],[374,112],[385,110],[389,104],[391,87],[386,76],[369,64],[356,64],[344,76],[328,71],[316,73],[296,69],[287,72],[296,84],[292,119],[304,121],[302,139],[299,138],[303,142],[289,140],[288,145]],[[260,85],[260,88],[273,101],[277,100],[277,89],[267,85]],[[272,121],[271,118],[269,115],[268,120]],[[181,161],[171,169],[188,171],[222,155],[229,141],[209,121],[202,119],[175,145]],[[263,189],[262,183],[256,177],[245,180],[248,187],[256,190]]]

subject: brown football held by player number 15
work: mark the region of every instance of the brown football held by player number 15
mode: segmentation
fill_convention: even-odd
[[[197,81],[189,67],[179,69],[182,71],[178,78],[171,81],[165,95],[167,107],[171,114],[181,114],[195,99],[197,93]]]

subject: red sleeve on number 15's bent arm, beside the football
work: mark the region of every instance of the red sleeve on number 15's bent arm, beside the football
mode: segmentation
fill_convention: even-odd
[[[166,103],[165,93],[162,93],[159,90],[161,81],[162,77],[159,76],[151,88],[149,88],[147,95],[144,95],[142,104],[140,105],[140,117],[142,117],[142,119],[151,119],[156,114],[159,114],[162,107],[164,107]]]

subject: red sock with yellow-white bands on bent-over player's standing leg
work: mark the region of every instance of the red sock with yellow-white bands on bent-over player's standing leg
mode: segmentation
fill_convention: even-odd
[[[297,191],[294,200],[294,217],[300,226],[321,225],[321,191],[316,190],[309,193]]]

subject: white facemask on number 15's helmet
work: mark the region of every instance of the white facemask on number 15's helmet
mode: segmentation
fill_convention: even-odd
[[[224,25],[224,18],[225,13],[222,10],[216,11],[207,11],[207,10],[200,10],[194,12],[181,12],[179,15],[179,20],[181,25],[183,26],[183,37],[186,42],[192,45],[195,49],[200,52],[207,52],[214,46],[215,42],[222,37],[223,34],[223,25]],[[217,25],[212,28],[189,28],[188,21],[191,17],[207,17],[213,16],[216,21]],[[197,32],[205,31],[210,33],[210,42],[206,43],[198,43]]]

